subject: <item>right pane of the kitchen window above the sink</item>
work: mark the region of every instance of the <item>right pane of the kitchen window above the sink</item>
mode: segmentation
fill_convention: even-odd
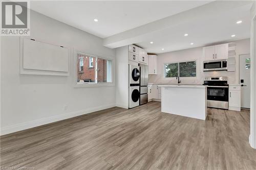
[[[196,77],[197,62],[189,61],[180,63],[180,77]]]

